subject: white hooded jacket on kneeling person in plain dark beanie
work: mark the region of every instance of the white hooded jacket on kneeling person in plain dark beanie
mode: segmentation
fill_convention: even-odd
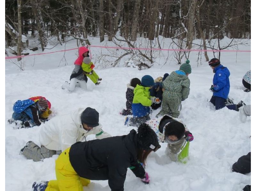
[[[81,122],[81,114],[84,108],[72,112],[72,114],[60,115],[41,125],[39,141],[42,146],[50,150],[61,150],[62,152],[84,137],[95,134],[96,139],[111,137],[104,132],[102,125],[93,127],[92,130],[85,130]]]

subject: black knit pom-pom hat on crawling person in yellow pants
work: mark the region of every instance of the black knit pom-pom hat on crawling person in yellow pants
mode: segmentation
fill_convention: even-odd
[[[159,146],[156,133],[146,123],[142,123],[138,127],[138,145],[143,150],[154,150]]]

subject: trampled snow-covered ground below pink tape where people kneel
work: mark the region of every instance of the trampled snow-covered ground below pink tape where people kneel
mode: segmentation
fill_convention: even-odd
[[[97,42],[96,42],[97,40]],[[98,39],[91,39],[93,45],[100,45]],[[168,43],[166,43],[168,44]],[[66,49],[76,47],[75,41],[66,44]],[[166,47],[168,48],[168,46]],[[193,47],[196,48],[196,47]],[[239,46],[240,50],[250,50],[250,46]],[[64,50],[64,46],[56,46],[52,52]],[[100,54],[99,48],[91,48],[92,62]],[[36,52],[30,52],[33,54]],[[41,162],[27,160],[20,155],[20,149],[28,142],[39,144],[39,127],[28,129],[13,129],[7,123],[12,116],[12,106],[17,100],[28,99],[32,96],[44,96],[52,103],[53,116],[72,112],[78,107],[92,107],[100,113],[100,123],[103,130],[113,136],[128,134],[133,127],[124,126],[124,116],[118,112],[125,107],[126,84],[134,77],[140,78],[146,74],[154,79],[179,69],[173,59],[163,65],[166,52],[156,57],[157,63],[148,70],[139,71],[136,68],[120,67],[101,69],[95,62],[95,71],[103,79],[99,86],[95,86],[90,79],[87,91],[76,88],[74,92],[61,89],[64,81],[69,80],[76,59],[76,50],[65,52],[67,61],[64,66],[64,52],[25,57],[25,71],[10,61],[5,60],[5,190],[32,190],[32,184],[38,180],[55,179],[55,155]],[[172,54],[169,52],[169,54]],[[245,185],[251,185],[251,173],[247,175],[231,171],[232,164],[242,155],[251,151],[251,117],[246,122],[239,120],[239,112],[223,108],[215,111],[209,103],[212,92],[213,73],[208,62],[202,58],[202,65],[197,65],[198,52],[190,53],[192,73],[190,95],[182,102],[180,119],[188,126],[194,135],[190,143],[189,161],[187,164],[172,162],[165,154],[166,143],[161,143],[161,149],[151,153],[147,160],[146,171],[151,182],[144,185],[139,178],[128,170],[124,183],[125,190],[133,191],[238,191]],[[208,52],[209,58],[213,54]],[[111,58],[109,58],[111,59]],[[185,59],[182,59],[182,63]],[[234,103],[243,100],[251,104],[251,92],[244,92],[242,84],[244,74],[251,69],[251,53],[249,52],[223,52],[221,64],[227,66],[231,75],[229,96]],[[153,111],[151,118],[155,118],[160,109]],[[253,116],[253,113],[252,113]],[[90,136],[87,140],[94,139]],[[107,191],[108,181],[92,181],[84,190]]]

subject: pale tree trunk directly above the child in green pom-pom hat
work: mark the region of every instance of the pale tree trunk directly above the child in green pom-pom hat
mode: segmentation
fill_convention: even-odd
[[[189,0],[189,13],[188,13],[188,34],[187,34],[187,47],[192,48],[192,42],[194,37],[194,19],[195,19],[195,8],[196,0]]]

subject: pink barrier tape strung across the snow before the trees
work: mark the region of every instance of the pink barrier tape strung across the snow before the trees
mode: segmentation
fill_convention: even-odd
[[[189,51],[199,51],[199,52],[251,52],[251,50],[201,50],[201,49],[155,49],[155,48],[130,48],[130,47],[114,47],[114,46],[94,46],[94,45],[87,45],[87,47],[97,47],[97,48],[109,48],[109,49],[130,49],[130,50],[167,50],[167,51],[182,51],[182,52],[189,52]],[[69,50],[76,50],[68,49],[68,50],[59,50],[54,52],[45,52],[45,53],[38,53],[38,54],[30,54],[30,55],[21,55],[21,56],[12,56],[12,57],[5,57],[5,59],[13,59],[13,58],[22,58],[27,56],[35,56],[35,55],[42,55],[42,54],[51,54],[55,52],[65,52]],[[90,51],[90,58],[92,59],[92,54]]]

